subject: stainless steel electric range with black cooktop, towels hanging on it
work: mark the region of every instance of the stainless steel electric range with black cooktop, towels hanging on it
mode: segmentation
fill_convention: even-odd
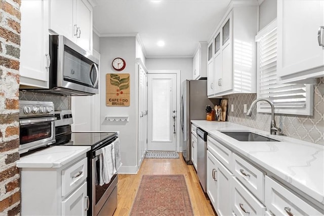
[[[88,196],[90,206],[88,215],[112,215],[117,206],[117,174],[114,174],[108,184],[100,186],[100,155],[102,148],[117,139],[117,132],[72,132],[73,123],[71,111],[55,112],[55,140],[53,145],[60,146],[90,146],[88,152]]]

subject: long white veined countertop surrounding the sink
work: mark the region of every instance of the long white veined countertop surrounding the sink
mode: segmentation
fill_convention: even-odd
[[[223,145],[279,177],[324,206],[324,146],[230,122],[193,120]],[[250,131],[280,142],[238,141],[220,131]]]

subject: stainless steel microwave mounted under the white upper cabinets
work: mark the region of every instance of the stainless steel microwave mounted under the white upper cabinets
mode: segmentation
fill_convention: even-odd
[[[99,60],[63,35],[50,35],[49,92],[98,94]]]

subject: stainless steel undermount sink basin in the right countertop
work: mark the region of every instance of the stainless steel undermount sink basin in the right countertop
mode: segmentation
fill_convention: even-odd
[[[238,141],[266,141],[266,142],[279,142],[279,140],[271,139],[265,136],[258,135],[256,133],[252,132],[246,132],[246,131],[220,131],[234,139],[237,139]]]

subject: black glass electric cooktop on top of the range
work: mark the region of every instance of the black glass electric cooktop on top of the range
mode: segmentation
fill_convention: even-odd
[[[116,132],[69,132],[55,137],[55,146],[91,146],[91,149],[111,142],[117,137]]]

